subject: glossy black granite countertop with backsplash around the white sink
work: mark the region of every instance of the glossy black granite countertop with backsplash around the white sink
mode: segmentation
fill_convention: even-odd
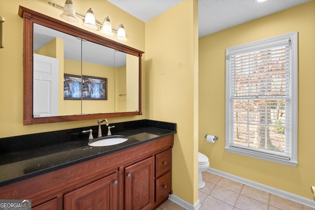
[[[110,124],[113,125],[112,134],[127,136],[126,142],[105,147],[88,146],[89,134],[82,131],[92,128],[96,138],[98,126],[0,139],[0,186],[176,133],[176,123],[155,120]],[[106,125],[102,125],[102,133],[107,134]]]

